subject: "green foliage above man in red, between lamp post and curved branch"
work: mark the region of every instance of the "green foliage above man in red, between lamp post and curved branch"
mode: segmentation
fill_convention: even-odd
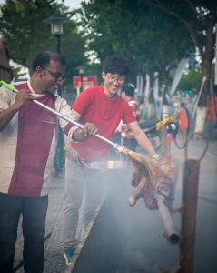
[[[80,15],[88,48],[101,61],[111,54],[124,55],[133,77],[157,70],[166,80],[165,67],[188,56],[193,48],[177,20],[143,0],[91,0],[82,3]]]

